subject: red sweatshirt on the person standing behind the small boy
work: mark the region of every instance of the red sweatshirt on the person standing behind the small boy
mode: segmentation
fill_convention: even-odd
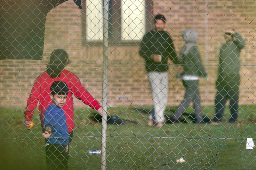
[[[39,116],[41,122],[44,120],[44,112],[47,107],[52,104],[52,100],[50,98],[51,90],[50,86],[53,81],[64,81],[67,83],[69,92],[66,104],[62,107],[65,112],[67,118],[68,132],[72,132],[75,127],[74,123],[74,102],[72,95],[74,94],[78,99],[82,100],[84,104],[89,105],[93,109],[98,110],[101,105],[99,102],[94,99],[91,94],[84,88],[81,81],[78,77],[68,71],[63,70],[60,74],[60,77],[50,78],[47,72],[40,74],[34,83],[34,86],[31,90],[31,94],[28,98],[28,104],[26,107],[25,120],[31,121],[34,110],[37,107],[39,102]],[[43,122],[42,122],[43,123]]]

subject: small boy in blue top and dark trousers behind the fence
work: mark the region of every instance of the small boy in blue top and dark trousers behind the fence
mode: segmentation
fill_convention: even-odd
[[[54,81],[50,87],[52,104],[44,113],[47,170],[68,170],[68,126],[64,111],[68,86],[64,81]]]

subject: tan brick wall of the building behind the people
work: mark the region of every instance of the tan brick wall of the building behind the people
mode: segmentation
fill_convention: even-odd
[[[208,5],[207,5],[208,4]],[[70,8],[71,6],[71,8]],[[154,1],[153,13],[166,14],[167,31],[175,41],[176,51],[182,47],[180,36],[185,28],[196,29],[200,33],[198,47],[203,63],[209,73],[212,84],[203,83],[203,104],[213,104],[218,53],[223,43],[223,30],[237,28],[246,38],[246,48],[242,51],[242,83],[240,104],[252,104],[255,101],[255,35],[253,25],[256,3],[250,1]],[[36,77],[44,72],[48,56],[57,48],[67,49],[71,64],[67,69],[76,73],[86,89],[97,100],[102,96],[102,48],[83,46],[82,11],[72,1],[61,4],[47,15],[45,28],[44,56],[42,61],[0,60],[0,105],[2,107],[25,107]],[[138,55],[138,47],[110,47],[108,64],[108,104],[109,106],[126,104],[152,104],[151,90],[144,61]],[[178,104],[184,93],[182,82],[175,79],[176,70],[169,74],[169,105]],[[201,79],[204,81],[204,79]],[[76,106],[81,102],[76,101]]]

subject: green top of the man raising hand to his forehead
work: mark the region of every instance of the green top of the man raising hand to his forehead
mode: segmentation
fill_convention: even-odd
[[[245,46],[244,39],[238,33],[232,34],[233,41],[228,41],[220,47],[220,65],[218,78],[225,78],[227,75],[236,76],[240,72],[240,53]]]

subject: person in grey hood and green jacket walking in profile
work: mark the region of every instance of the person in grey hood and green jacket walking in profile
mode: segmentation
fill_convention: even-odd
[[[190,103],[193,102],[194,111],[196,112],[196,122],[204,123],[201,114],[202,109],[198,81],[200,76],[204,76],[207,79],[207,74],[201,62],[200,52],[196,47],[198,32],[196,30],[185,29],[182,32],[182,36],[185,44],[179,56],[180,65],[183,67],[181,78],[186,92],[183,101],[178,107],[178,110],[174,113],[171,121],[173,123],[178,122],[182,113],[188,108]]]

